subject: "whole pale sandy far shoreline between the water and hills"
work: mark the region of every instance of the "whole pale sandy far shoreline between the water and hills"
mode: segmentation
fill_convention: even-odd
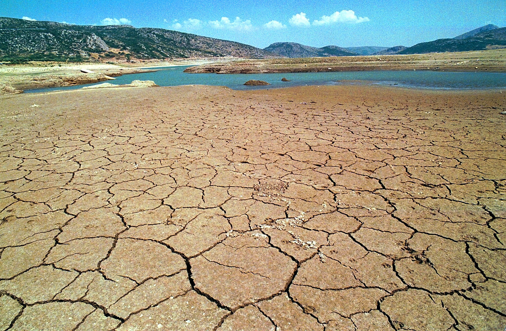
[[[108,63],[31,63],[0,66],[0,94],[24,89],[88,84],[107,76],[149,72],[156,67],[193,65],[190,73],[288,73],[360,70],[488,71],[506,70],[506,49],[415,55],[247,60],[238,58],[181,59],[173,61]],[[82,73],[89,69],[95,73]]]

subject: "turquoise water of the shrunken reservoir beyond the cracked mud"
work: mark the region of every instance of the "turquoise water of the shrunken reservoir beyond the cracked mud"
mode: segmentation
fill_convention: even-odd
[[[387,85],[418,89],[468,90],[468,89],[506,89],[506,73],[499,72],[448,72],[448,71],[335,71],[302,73],[251,73],[216,74],[184,73],[188,66],[162,67],[156,72],[134,73],[110,80],[112,84],[130,84],[134,79],[153,80],[159,86],[177,85],[215,85],[227,86],[234,90],[271,89],[305,85]],[[291,81],[281,81],[281,78]],[[271,86],[244,86],[249,79],[265,80]],[[93,83],[46,89],[26,90],[25,92],[49,92],[75,90]]]

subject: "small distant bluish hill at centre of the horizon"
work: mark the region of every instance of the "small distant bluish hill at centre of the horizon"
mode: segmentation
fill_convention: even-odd
[[[297,43],[274,43],[264,48],[264,51],[288,58],[309,58],[327,56],[354,56],[358,55],[338,46],[325,46],[322,48],[301,45]]]

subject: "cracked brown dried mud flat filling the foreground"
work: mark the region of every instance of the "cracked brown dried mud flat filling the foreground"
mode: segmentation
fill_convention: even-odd
[[[505,101],[1,97],[0,329],[503,330]]]

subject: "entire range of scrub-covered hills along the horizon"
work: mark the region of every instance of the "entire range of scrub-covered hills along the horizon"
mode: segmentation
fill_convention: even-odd
[[[321,48],[297,43],[274,43],[265,49],[159,28],[130,25],[72,25],[0,17],[0,60],[82,61],[208,58],[328,57],[358,55],[461,52],[506,48],[506,28],[488,24],[454,38],[437,39],[412,47],[362,46]]]

